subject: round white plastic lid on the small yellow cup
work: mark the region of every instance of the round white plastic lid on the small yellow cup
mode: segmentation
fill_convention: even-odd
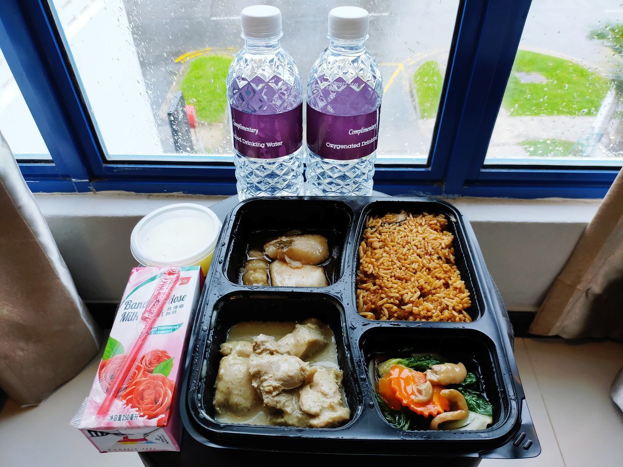
[[[132,230],[130,250],[144,266],[189,266],[214,251],[221,220],[199,204],[156,209]]]

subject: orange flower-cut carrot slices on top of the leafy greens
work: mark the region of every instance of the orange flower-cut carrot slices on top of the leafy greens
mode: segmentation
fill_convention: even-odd
[[[409,410],[419,415],[424,417],[436,417],[450,408],[448,400],[440,394],[445,388],[436,384],[432,386],[433,392],[430,400],[424,403],[415,402],[416,387],[426,382],[426,373],[415,371],[401,365],[394,365],[389,369],[385,377],[388,379],[389,388],[384,387],[384,392],[389,396],[391,390],[391,394],[393,395],[393,397],[388,397],[388,399],[399,401],[401,405],[404,405],[404,407],[409,408]],[[386,383],[384,383],[384,385],[386,385]],[[381,381],[379,380],[379,392],[380,387]],[[388,402],[386,397],[383,397],[383,399],[385,402]]]

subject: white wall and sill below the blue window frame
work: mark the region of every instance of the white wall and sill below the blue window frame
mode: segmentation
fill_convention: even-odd
[[[119,300],[130,268],[130,233],[140,218],[173,202],[211,205],[222,197],[37,194],[65,262],[86,301]],[[535,311],[597,209],[596,200],[451,200],[472,222],[506,307]]]

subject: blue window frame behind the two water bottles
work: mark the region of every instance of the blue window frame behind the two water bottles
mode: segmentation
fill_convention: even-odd
[[[618,167],[483,166],[530,0],[462,0],[426,166],[379,165],[388,194],[602,197]],[[112,163],[104,156],[44,0],[4,0],[0,48],[54,163],[23,163],[34,192],[234,194],[227,163]]]

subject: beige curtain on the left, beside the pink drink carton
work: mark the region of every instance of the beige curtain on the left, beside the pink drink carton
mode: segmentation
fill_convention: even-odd
[[[0,388],[41,402],[97,354],[98,334],[0,133]]]

